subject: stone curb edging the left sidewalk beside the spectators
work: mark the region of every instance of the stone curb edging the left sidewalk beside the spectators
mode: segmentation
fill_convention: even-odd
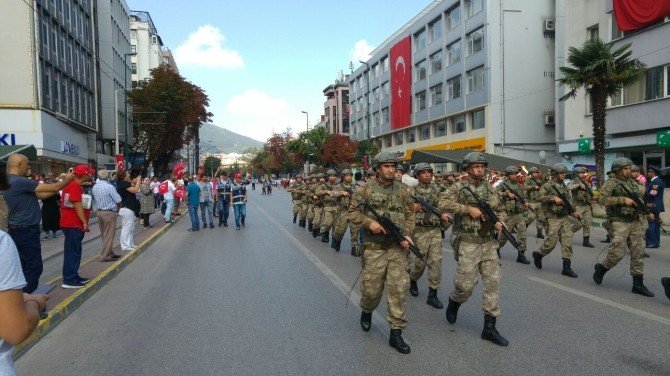
[[[26,351],[33,347],[40,339],[42,339],[42,337],[44,337],[53,328],[65,320],[66,317],[70,316],[72,312],[79,308],[79,306],[81,306],[85,301],[93,296],[93,294],[98,292],[98,290],[100,290],[117,274],[125,269],[126,266],[133,262],[133,260],[144,253],[144,251],[148,249],[149,246],[151,246],[156,240],[158,240],[158,238],[161,237],[163,233],[172,228],[175,223],[178,223],[181,218],[182,216],[178,216],[176,221],[156,231],[156,233],[139,244],[136,250],[123,256],[112,266],[105,269],[95,278],[91,279],[91,281],[87,283],[85,287],[77,290],[74,294],[60,302],[51,311],[49,311],[49,316],[39,322],[33,334],[28,337],[28,339],[14,347],[14,360],[16,361],[18,358],[20,358],[21,355],[25,354]]]

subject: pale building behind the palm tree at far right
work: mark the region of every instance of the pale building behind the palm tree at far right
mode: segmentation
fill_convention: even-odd
[[[670,129],[670,19],[666,17],[640,30],[623,32],[613,13],[612,0],[557,1],[556,65],[566,65],[568,48],[588,38],[613,42],[614,48],[631,43],[632,59],[647,65],[639,81],[610,98],[607,108],[605,168],[620,156],[644,169],[670,163],[663,135]],[[558,87],[556,98],[566,89]],[[583,91],[575,99],[556,102],[558,151],[572,164],[595,164],[590,138],[593,117]],[[586,145],[580,152],[579,144]],[[659,141],[659,142],[657,142]],[[583,154],[582,154],[583,153]]]

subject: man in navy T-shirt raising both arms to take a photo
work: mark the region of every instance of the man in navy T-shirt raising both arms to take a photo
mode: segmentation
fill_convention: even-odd
[[[42,211],[38,199],[45,199],[58,193],[70,184],[74,175],[68,173],[58,183],[46,184],[28,179],[30,169],[28,158],[12,154],[7,161],[9,189],[3,192],[9,206],[9,236],[19,250],[21,268],[26,278],[24,292],[37,289],[42,275],[42,245],[40,244],[40,221]]]

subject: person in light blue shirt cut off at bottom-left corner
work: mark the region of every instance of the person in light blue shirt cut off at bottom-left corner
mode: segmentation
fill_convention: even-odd
[[[0,180],[2,185],[7,183],[4,173]],[[16,246],[6,232],[0,231],[0,375],[3,376],[16,375],[12,360],[14,346],[30,337],[49,299],[46,295],[22,293],[25,286]]]

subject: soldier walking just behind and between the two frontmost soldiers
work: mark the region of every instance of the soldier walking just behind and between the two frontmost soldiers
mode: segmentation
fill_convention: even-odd
[[[419,185],[414,187],[414,194],[428,202],[434,207],[438,207],[440,203],[440,188],[433,183],[433,168],[428,163],[417,163],[414,168],[416,176],[419,179]],[[414,237],[416,238],[416,246],[421,250],[421,254],[426,258],[428,266],[428,300],[426,304],[433,308],[442,309],[444,306],[437,297],[437,289],[440,288],[440,281],[442,280],[442,236],[440,233],[440,224],[448,222],[449,216],[442,214],[441,218],[437,218],[430,212],[424,212],[421,205],[414,203],[414,212],[416,218],[416,227],[414,230]],[[419,295],[419,288],[416,281],[421,278],[426,263],[418,257],[413,257],[414,266],[409,273],[409,293],[412,296]]]

